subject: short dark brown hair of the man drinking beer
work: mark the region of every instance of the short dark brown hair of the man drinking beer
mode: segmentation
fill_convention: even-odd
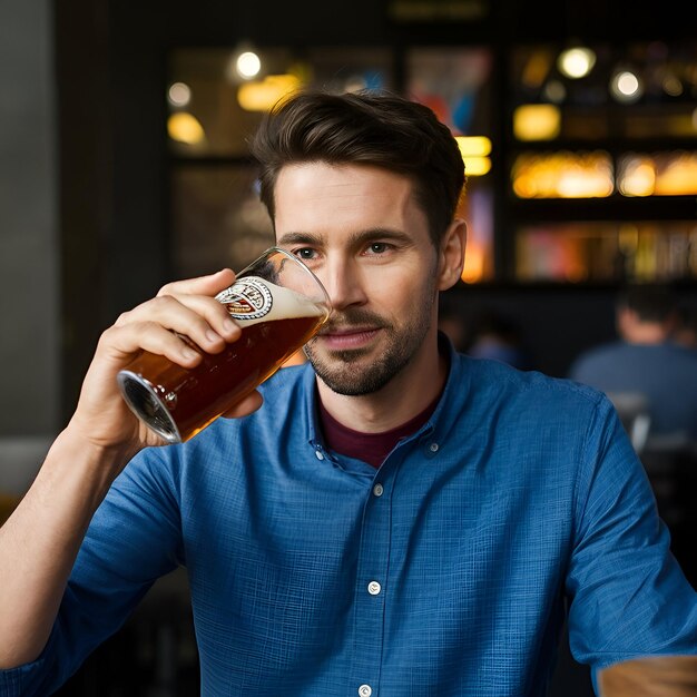
[[[464,188],[464,164],[449,128],[428,107],[390,92],[297,92],[266,116],[251,151],[272,220],[276,178],[291,164],[373,165],[410,177],[436,246]]]

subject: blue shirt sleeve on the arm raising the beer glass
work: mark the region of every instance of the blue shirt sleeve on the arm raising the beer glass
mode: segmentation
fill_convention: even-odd
[[[183,562],[173,468],[157,451],[137,455],[112,484],[89,526],[47,646],[36,661],[0,670],[3,697],[60,687],[155,580]]]

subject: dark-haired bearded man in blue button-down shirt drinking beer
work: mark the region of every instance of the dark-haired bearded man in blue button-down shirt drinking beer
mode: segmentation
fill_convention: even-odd
[[[174,332],[236,341],[213,300],[232,273],[105,332],[1,530],[0,691],[47,694],[177,565],[206,696],[543,695],[566,598],[578,659],[691,661],[697,599],[603,395],[439,341],[465,234],[448,129],[387,95],[300,94],[253,153],[333,315],[244,418],[167,448],[117,371],[140,348],[194,365]]]

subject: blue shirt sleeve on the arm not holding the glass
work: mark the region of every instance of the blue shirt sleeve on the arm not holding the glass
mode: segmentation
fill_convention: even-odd
[[[670,552],[649,480],[606,399],[582,459],[567,576],[575,658],[597,670],[697,654],[697,593]]]

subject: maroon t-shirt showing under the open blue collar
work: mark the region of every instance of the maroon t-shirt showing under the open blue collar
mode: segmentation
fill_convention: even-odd
[[[347,429],[336,419],[330,415],[320,402],[320,419],[324,431],[324,440],[330,450],[348,458],[355,458],[379,468],[383,460],[390,454],[397,442],[415,433],[435,410],[440,394],[420,414],[410,419],[396,429],[383,431],[382,433],[362,433]]]

